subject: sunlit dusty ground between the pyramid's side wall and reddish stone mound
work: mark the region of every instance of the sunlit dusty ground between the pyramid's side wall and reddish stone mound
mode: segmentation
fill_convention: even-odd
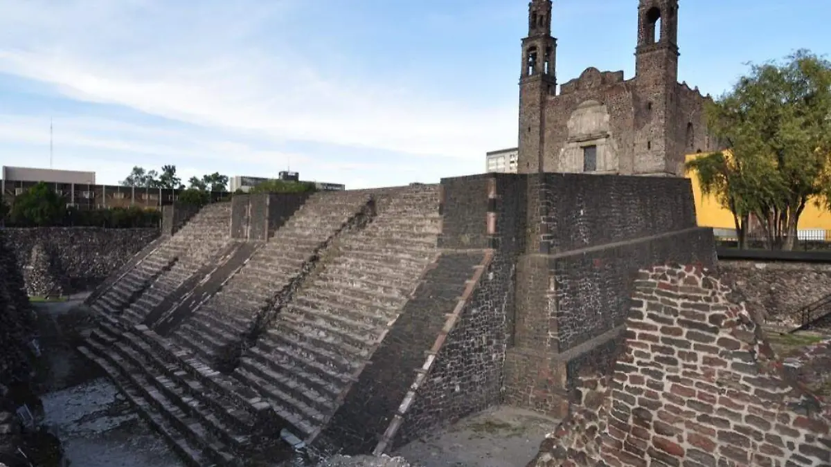
[[[529,410],[494,407],[413,441],[395,455],[421,467],[522,467],[558,422]]]

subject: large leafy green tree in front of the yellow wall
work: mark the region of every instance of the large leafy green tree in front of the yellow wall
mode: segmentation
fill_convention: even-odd
[[[708,105],[707,120],[730,156],[687,164],[702,191],[730,209],[737,230],[752,215],[768,248],[792,249],[809,201],[831,204],[831,62],[800,50],[780,63],[751,65]]]

